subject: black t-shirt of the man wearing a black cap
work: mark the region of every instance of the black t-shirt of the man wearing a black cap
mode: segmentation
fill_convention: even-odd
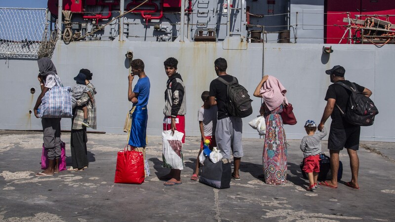
[[[351,86],[351,82],[348,80],[340,80],[340,81]],[[356,83],[354,84],[356,85],[356,90],[359,92],[362,92],[365,89],[365,87],[363,86],[360,86]],[[328,90],[326,91],[325,100],[328,101],[328,99],[335,99],[336,104],[340,107],[340,109],[342,109],[342,111],[345,112],[347,107],[347,102],[350,97],[350,93],[351,92],[345,89],[343,86],[339,84],[332,84],[328,87]],[[342,113],[340,112],[339,108],[337,108],[336,105],[333,108],[333,112],[330,115],[330,117],[332,118],[332,123],[330,125],[332,128],[347,129],[347,128],[355,127],[355,125],[350,124],[349,122],[343,119]]]

